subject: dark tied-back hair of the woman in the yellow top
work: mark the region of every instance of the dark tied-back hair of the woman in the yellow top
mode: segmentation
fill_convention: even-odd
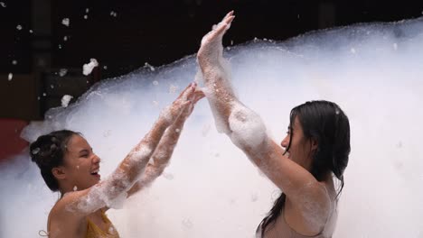
[[[59,182],[54,178],[52,169],[63,165],[66,147],[72,135],[80,135],[69,130],[61,130],[42,135],[30,145],[30,155],[41,170],[47,186],[53,191],[59,190]]]

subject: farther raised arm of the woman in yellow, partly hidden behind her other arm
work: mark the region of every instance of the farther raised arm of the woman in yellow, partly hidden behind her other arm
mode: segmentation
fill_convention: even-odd
[[[169,163],[174,152],[174,147],[179,140],[179,136],[183,131],[183,124],[186,119],[193,113],[194,105],[204,97],[202,91],[196,91],[193,96],[193,103],[187,106],[183,113],[171,124],[165,131],[164,136],[160,140],[155,149],[150,162],[146,166],[146,172],[136,181],[136,184],[127,192],[128,197],[134,195],[139,190],[150,186],[155,178],[159,177],[164,168]]]

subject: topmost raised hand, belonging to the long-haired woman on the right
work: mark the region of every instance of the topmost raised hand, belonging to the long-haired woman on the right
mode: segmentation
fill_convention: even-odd
[[[202,45],[197,53],[197,59],[202,70],[208,69],[209,66],[216,66],[221,58],[223,47],[221,40],[223,35],[230,28],[235,15],[233,11],[226,14],[221,23],[213,26],[211,32],[202,37]]]

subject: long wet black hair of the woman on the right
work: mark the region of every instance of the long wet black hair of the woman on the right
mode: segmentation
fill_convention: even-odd
[[[306,102],[294,107],[289,118],[290,128],[296,117],[303,128],[305,139],[314,139],[317,142],[310,173],[318,181],[322,181],[324,175],[332,171],[341,183],[336,196],[339,197],[343,190],[343,170],[347,167],[351,151],[348,117],[338,105],[323,100]],[[290,133],[287,151],[291,146],[292,134]],[[258,224],[256,232],[260,233],[261,237],[264,236],[268,225],[275,222],[281,215],[286,197],[286,194],[282,193],[270,209],[268,216]]]

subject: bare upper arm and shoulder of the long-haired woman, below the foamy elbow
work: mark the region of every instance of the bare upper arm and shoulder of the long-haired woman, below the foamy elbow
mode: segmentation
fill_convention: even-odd
[[[306,169],[284,155],[284,150],[268,138],[259,152],[245,148],[250,160],[280,188],[306,224],[318,231],[323,229],[331,211],[331,198],[323,183]]]

